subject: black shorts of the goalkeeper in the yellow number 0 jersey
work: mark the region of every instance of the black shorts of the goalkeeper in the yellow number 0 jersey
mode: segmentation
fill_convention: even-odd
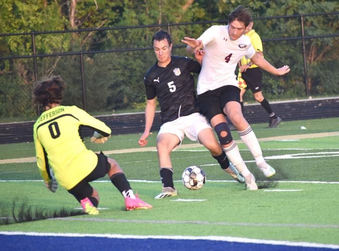
[[[110,168],[107,157],[102,152],[96,155],[98,157],[98,162],[93,171],[78,184],[76,184],[73,188],[68,190],[68,192],[72,194],[79,202],[86,197],[91,197],[93,193],[93,188],[91,187],[91,185],[89,185],[89,182],[104,177]]]

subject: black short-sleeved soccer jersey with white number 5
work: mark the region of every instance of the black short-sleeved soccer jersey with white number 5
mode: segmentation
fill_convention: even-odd
[[[199,112],[192,73],[199,73],[200,64],[187,57],[172,56],[166,67],[155,63],[145,75],[147,99],[158,98],[161,122]]]

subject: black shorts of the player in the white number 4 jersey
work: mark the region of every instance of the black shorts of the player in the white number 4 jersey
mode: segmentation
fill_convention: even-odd
[[[234,85],[225,85],[198,95],[201,112],[210,121],[217,114],[224,114],[223,107],[230,101],[240,103],[240,89]]]

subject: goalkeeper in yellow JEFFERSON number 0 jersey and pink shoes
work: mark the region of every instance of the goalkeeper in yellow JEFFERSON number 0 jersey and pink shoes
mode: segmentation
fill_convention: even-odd
[[[95,130],[91,138],[94,143],[104,143],[111,131],[86,111],[61,105],[65,88],[60,76],[51,76],[33,90],[34,101],[45,107],[33,130],[37,165],[46,187],[55,192],[61,185],[80,202],[85,213],[98,214],[99,195],[89,182],[108,174],[124,196],[127,210],[152,208],[133,193],[117,161],[86,148],[79,135],[80,126]]]

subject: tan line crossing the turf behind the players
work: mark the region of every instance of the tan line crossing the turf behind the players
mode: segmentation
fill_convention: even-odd
[[[258,141],[265,142],[265,141],[281,141],[281,140],[299,140],[299,139],[323,138],[323,137],[332,137],[332,136],[339,136],[339,132],[276,136],[276,137],[261,138],[261,139],[258,139]],[[242,143],[241,140],[238,140],[236,142],[237,144]],[[201,144],[186,144],[186,145],[181,145],[180,149],[195,148],[195,147],[202,147],[202,145]],[[144,148],[140,147],[140,148],[131,148],[131,149],[122,149],[122,150],[103,151],[103,153],[105,155],[110,155],[110,154],[122,154],[122,153],[149,152],[149,151],[157,151],[157,149],[156,147],[144,147]],[[36,157],[0,160],[0,164],[27,163],[27,162],[36,162]]]

